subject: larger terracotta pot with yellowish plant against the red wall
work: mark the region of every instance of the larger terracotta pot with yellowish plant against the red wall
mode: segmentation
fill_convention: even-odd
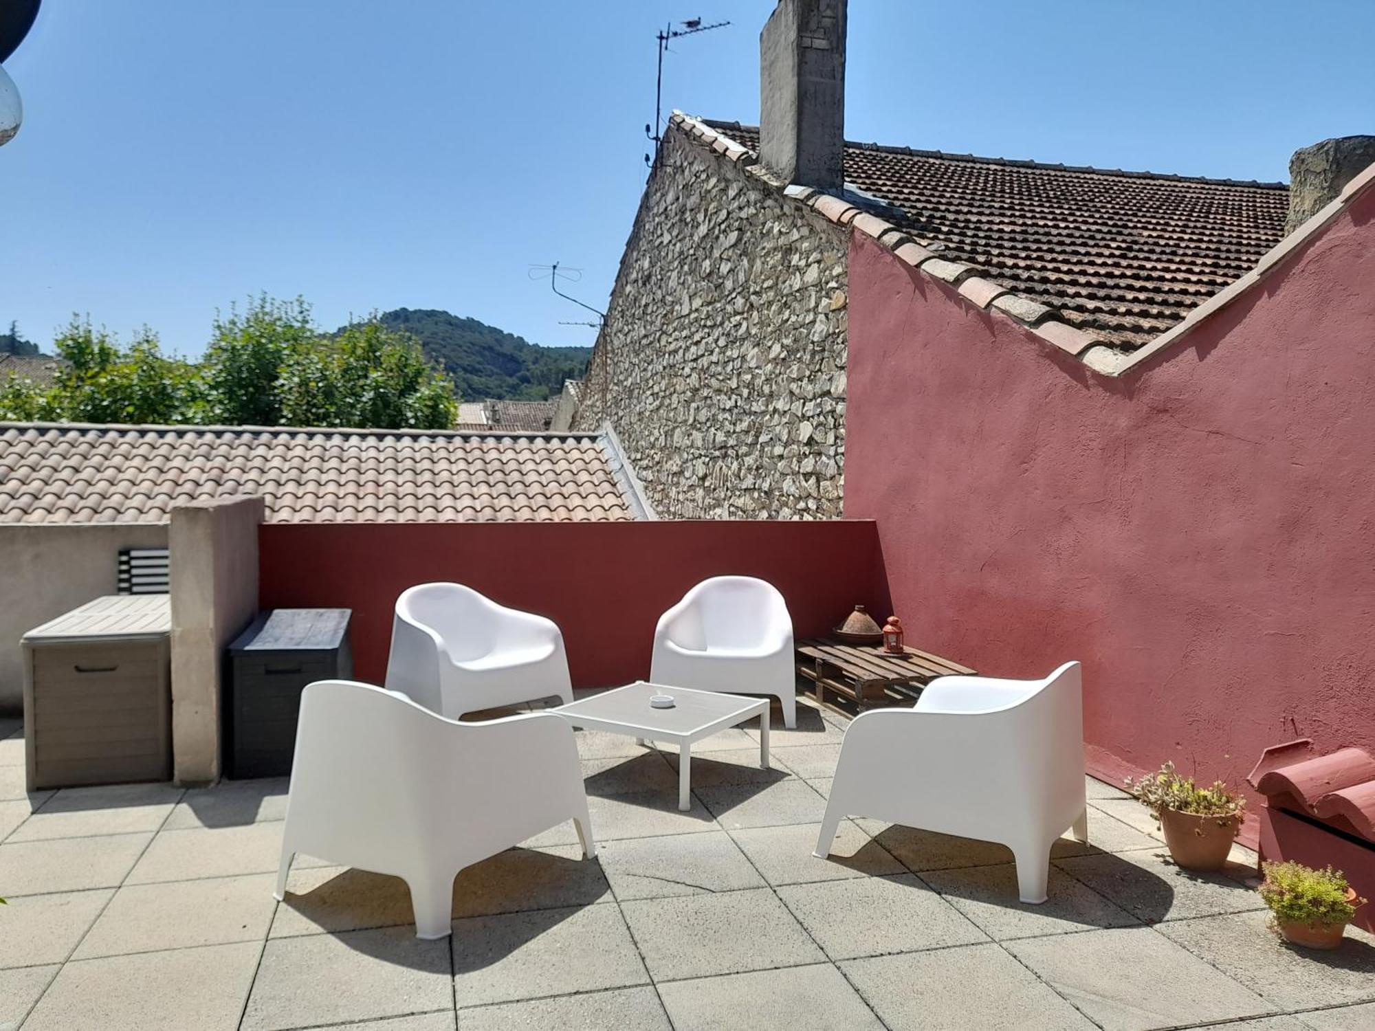
[[[1185,870],[1221,870],[1242,829],[1246,799],[1221,781],[1200,788],[1166,763],[1140,781],[1126,778],[1137,801],[1155,814],[1170,856]]]

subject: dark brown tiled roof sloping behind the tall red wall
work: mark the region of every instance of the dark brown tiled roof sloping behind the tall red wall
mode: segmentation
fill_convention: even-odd
[[[676,124],[676,122],[675,122]],[[758,157],[759,129],[703,121]],[[1130,352],[1254,268],[1288,187],[846,143],[850,190],[939,257]]]

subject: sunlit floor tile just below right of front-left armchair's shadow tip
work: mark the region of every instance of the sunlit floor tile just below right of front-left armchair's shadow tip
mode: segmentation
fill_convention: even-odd
[[[656,982],[800,966],[821,950],[766,888],[642,899],[622,906]],[[748,929],[748,933],[741,933]]]

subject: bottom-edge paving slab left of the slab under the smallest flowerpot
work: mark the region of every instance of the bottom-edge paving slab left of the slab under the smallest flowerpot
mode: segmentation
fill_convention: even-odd
[[[1275,1009],[1150,928],[1034,938],[1008,949],[1104,1031],[1150,1031]]]

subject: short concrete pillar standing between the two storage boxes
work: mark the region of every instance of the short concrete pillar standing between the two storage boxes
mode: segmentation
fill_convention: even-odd
[[[224,649],[257,613],[261,498],[172,510],[172,767],[177,784],[220,777]]]

